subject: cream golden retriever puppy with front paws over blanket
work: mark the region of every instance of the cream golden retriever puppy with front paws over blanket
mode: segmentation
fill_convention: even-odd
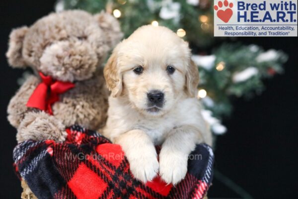
[[[116,46],[104,77],[109,97],[103,134],[120,144],[135,178],[177,184],[196,144],[211,133],[196,99],[199,73],[188,43],[165,27],[142,26]],[[159,162],[154,145],[161,145]]]

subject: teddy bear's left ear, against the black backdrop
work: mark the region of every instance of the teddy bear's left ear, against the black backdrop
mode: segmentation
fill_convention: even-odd
[[[22,57],[23,41],[28,31],[27,26],[23,26],[11,31],[8,41],[8,50],[6,57],[8,63],[15,68],[25,67],[24,59]]]

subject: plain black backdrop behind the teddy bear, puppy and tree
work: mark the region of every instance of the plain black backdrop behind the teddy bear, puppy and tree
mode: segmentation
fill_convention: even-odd
[[[20,198],[12,169],[16,130],[6,119],[9,99],[23,70],[8,67],[7,38],[14,27],[31,25],[53,11],[55,0],[0,0],[0,196]],[[289,55],[285,73],[265,80],[266,91],[252,100],[234,99],[218,137],[215,167],[253,198],[298,198],[298,47],[297,37],[242,37],[245,44],[281,49]],[[240,198],[217,178],[210,198]]]

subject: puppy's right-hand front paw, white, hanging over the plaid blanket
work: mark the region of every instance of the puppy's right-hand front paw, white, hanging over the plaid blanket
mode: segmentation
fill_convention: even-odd
[[[173,185],[184,179],[187,172],[187,160],[184,155],[168,154],[161,150],[159,154],[159,175],[167,184]]]

